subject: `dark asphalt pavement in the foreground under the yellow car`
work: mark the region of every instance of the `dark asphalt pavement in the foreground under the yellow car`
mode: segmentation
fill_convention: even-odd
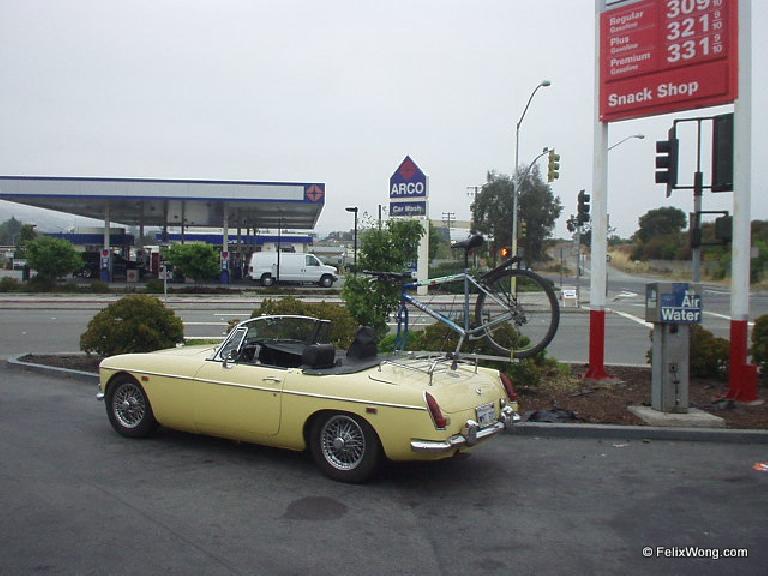
[[[0,574],[763,575],[763,445],[505,434],[351,486],[303,454],[114,433],[95,386],[0,368]],[[643,557],[743,548],[746,558]],[[663,552],[662,552],[663,553]],[[709,552],[710,554],[712,552]]]

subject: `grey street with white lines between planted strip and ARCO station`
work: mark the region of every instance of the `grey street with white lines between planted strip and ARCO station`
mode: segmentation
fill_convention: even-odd
[[[650,327],[644,321],[646,282],[610,269],[606,315],[605,359],[607,363],[643,364],[650,348]],[[559,279],[558,279],[559,280]],[[589,279],[581,279],[582,294],[588,294]],[[575,284],[565,278],[564,285]],[[77,351],[79,337],[103,298],[42,295],[24,297],[0,295],[0,354]],[[39,298],[39,299],[38,299]],[[323,296],[318,295],[318,298]],[[326,297],[329,300],[336,297]],[[232,318],[247,318],[256,306],[255,299],[219,296],[176,297],[169,304],[184,322],[184,333],[193,337],[216,337]],[[459,309],[460,305],[454,306]],[[730,330],[730,293],[727,287],[705,284],[704,327],[727,338]],[[768,313],[768,295],[755,293],[750,298],[751,317]],[[564,362],[587,362],[589,358],[589,315],[586,310],[563,309],[560,329],[549,353]]]

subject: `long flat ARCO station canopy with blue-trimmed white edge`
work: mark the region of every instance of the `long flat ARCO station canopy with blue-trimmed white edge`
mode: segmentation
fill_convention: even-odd
[[[136,226],[312,229],[325,184],[0,176],[0,199]]]

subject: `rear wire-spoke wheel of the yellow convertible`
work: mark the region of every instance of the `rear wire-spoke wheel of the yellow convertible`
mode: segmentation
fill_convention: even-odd
[[[310,450],[323,473],[341,482],[365,482],[381,460],[379,437],[370,424],[353,414],[315,418]]]

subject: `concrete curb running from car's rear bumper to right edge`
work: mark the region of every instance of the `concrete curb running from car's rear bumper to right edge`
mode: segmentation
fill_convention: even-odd
[[[663,428],[659,426],[619,426],[616,424],[550,424],[521,422],[510,435],[542,438],[595,438],[598,440],[670,440],[679,442],[725,442],[768,444],[768,430],[745,428]]]

